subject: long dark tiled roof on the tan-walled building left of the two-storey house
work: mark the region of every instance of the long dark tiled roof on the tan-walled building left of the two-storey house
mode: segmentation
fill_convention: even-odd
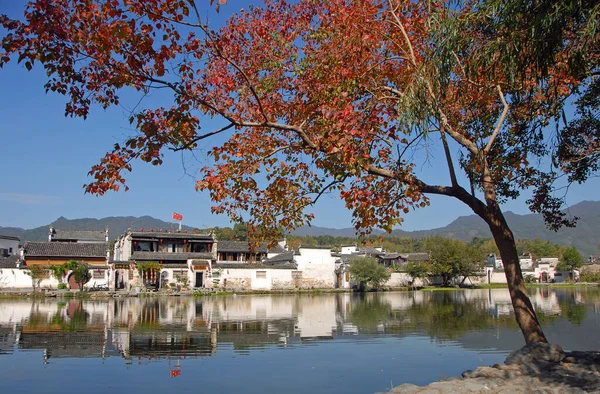
[[[25,259],[27,257],[104,257],[108,250],[107,243],[75,243],[75,242],[26,242]]]

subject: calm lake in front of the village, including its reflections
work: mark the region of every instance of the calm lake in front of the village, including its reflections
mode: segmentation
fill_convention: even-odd
[[[551,342],[600,350],[600,289],[535,288]],[[524,345],[505,289],[0,300],[0,392],[374,393]]]

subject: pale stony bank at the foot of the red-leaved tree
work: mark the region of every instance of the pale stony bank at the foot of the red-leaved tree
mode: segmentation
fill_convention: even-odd
[[[390,393],[600,393],[600,352],[564,352],[534,344],[510,354],[504,364],[465,371],[462,378],[425,387],[403,384]]]

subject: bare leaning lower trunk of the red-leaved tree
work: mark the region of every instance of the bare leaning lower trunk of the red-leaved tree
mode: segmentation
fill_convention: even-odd
[[[499,209],[494,211],[489,214],[486,221],[500,251],[517,324],[525,337],[525,343],[548,342],[525,288],[513,233],[502,212]]]

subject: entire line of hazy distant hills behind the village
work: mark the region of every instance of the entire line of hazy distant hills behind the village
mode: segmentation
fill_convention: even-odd
[[[597,252],[600,244],[600,201],[583,201],[569,208],[571,216],[579,217],[577,227],[563,228],[558,232],[546,228],[541,215],[518,215],[506,212],[506,220],[517,239],[541,239],[559,245],[575,246],[582,253],[589,255]],[[110,238],[116,239],[128,228],[171,228],[171,223],[155,219],[151,216],[139,218],[133,216],[108,217],[103,219],[66,219],[60,217],[51,223],[58,229],[73,230],[104,230],[110,231]],[[15,227],[0,227],[0,234],[21,238],[21,241],[45,241],[48,238],[48,227],[37,227],[30,230]],[[173,225],[175,228],[175,225]],[[193,227],[183,226],[183,229],[194,230]],[[378,232],[380,233],[380,232]],[[331,235],[334,237],[356,237],[354,228],[301,227],[294,232],[300,236]],[[490,230],[485,222],[476,215],[461,216],[445,227],[422,231],[394,230],[392,235],[407,238],[425,238],[441,236],[446,238],[471,241],[474,237],[491,238]]]

